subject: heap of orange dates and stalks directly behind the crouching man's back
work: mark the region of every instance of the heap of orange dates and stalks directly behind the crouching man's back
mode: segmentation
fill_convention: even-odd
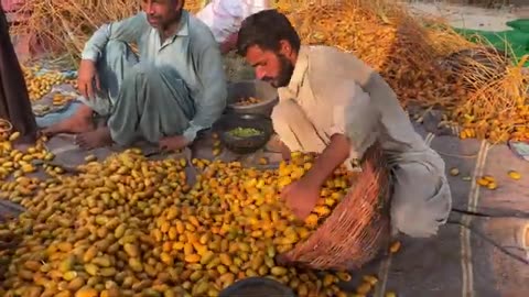
[[[326,44],[353,52],[380,72],[403,105],[435,98],[450,101],[454,90],[435,72],[436,55],[422,26],[398,6],[336,1],[289,13],[305,44]]]

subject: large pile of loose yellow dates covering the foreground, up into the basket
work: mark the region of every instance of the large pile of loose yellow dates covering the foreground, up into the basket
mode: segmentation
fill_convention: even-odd
[[[266,276],[298,296],[339,297],[364,296],[376,283],[366,278],[349,294],[337,286],[350,279],[345,272],[277,263],[349,187],[347,172],[336,170],[313,213],[296,220],[279,193],[311,168],[312,156],[293,153],[268,170],[193,160],[193,186],[185,160],[149,161],[136,148],[89,158],[77,174],[44,164],[50,177],[42,179],[30,175],[39,168],[23,169],[53,158],[42,143],[28,152],[2,145],[0,157],[10,162],[0,198],[26,209],[0,224],[0,296],[218,296],[238,279]]]

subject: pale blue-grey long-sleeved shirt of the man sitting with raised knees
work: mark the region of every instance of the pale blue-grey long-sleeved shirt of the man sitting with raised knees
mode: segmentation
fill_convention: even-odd
[[[161,40],[144,12],[105,24],[86,43],[83,59],[97,61],[108,41],[136,43],[141,63],[171,67],[186,84],[195,105],[195,116],[184,136],[193,141],[196,133],[208,129],[226,108],[227,82],[218,43],[202,21],[183,11],[173,36]]]

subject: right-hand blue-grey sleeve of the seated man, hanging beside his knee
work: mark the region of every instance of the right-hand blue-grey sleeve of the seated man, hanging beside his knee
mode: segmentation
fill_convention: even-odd
[[[184,131],[184,136],[190,142],[195,140],[198,131],[210,128],[223,114],[228,96],[223,57],[218,46],[209,45],[197,55],[196,64],[201,88],[193,95],[195,117]]]

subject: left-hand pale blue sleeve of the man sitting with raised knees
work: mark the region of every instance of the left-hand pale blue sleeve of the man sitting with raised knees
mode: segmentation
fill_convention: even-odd
[[[110,40],[138,42],[149,28],[150,25],[143,12],[118,22],[104,24],[96,30],[85,44],[82,58],[97,61]]]

